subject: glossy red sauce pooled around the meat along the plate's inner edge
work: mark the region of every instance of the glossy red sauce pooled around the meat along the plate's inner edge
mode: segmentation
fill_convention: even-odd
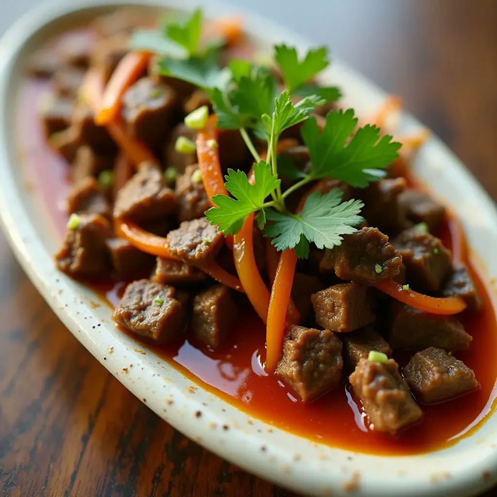
[[[68,191],[67,166],[42,136],[37,102],[46,86],[26,81],[20,88],[17,136],[26,176],[36,188],[47,216],[59,236],[65,231],[67,214],[61,208]],[[450,220],[449,220],[450,222]],[[452,247],[449,222],[441,231],[446,247]],[[466,252],[463,250],[463,254]],[[468,351],[457,357],[474,370],[481,388],[450,402],[422,406],[422,423],[397,437],[369,431],[364,416],[350,394],[346,382],[311,404],[304,404],[285,385],[267,376],[261,367],[265,358],[265,329],[255,313],[247,309],[243,319],[219,351],[211,351],[190,338],[168,347],[147,346],[202,388],[225,399],[248,414],[272,425],[318,442],[375,454],[415,454],[439,449],[457,441],[492,412],[496,397],[497,327],[495,303],[484,284],[483,271],[463,255],[484,308],[477,314],[464,313],[460,319],[473,336]],[[106,281],[95,289],[115,305],[125,282]],[[402,363],[402,358],[397,358]]]

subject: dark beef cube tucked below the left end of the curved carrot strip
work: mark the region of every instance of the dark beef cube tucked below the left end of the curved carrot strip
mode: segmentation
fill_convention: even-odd
[[[133,247],[127,240],[108,238],[105,245],[110,253],[114,272],[120,278],[144,275],[154,267],[155,257]]]

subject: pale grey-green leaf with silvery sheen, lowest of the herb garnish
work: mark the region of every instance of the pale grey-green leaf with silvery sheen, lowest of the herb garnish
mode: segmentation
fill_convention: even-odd
[[[333,248],[340,245],[341,235],[356,231],[354,226],[364,219],[359,216],[364,204],[360,200],[342,202],[343,193],[331,190],[325,195],[319,191],[309,195],[300,214],[283,214],[273,210],[266,212],[272,224],[266,226],[264,236],[278,250],[293,248],[300,258],[309,256],[309,243],[318,248]]]

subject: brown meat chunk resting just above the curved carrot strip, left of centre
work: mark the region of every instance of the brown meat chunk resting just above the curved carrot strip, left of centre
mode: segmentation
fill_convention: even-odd
[[[143,163],[117,194],[114,217],[150,222],[164,218],[175,209],[176,197],[165,185],[161,169],[155,164]]]

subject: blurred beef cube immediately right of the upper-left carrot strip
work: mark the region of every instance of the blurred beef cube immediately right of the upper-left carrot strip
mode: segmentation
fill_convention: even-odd
[[[170,133],[176,103],[174,90],[142,78],[123,95],[123,117],[128,133],[157,151]]]

